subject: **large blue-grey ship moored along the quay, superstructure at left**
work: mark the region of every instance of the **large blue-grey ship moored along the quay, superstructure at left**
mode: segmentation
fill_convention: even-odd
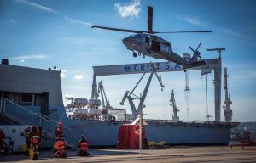
[[[163,65],[166,66],[166,63]],[[129,65],[127,69],[125,65],[122,70],[132,73],[131,67]],[[152,71],[149,66],[148,71],[150,70]],[[160,65],[157,70],[160,70]],[[170,70],[174,69],[170,68]],[[125,110],[101,109],[99,107],[101,101],[94,98],[93,93],[89,100],[72,98],[73,102],[65,107],[60,74],[61,70],[56,69],[44,70],[9,65],[8,60],[3,59],[0,64],[0,125],[41,126],[44,146],[50,146],[55,139],[56,126],[61,121],[64,124],[65,141],[71,147],[75,147],[81,135],[89,139],[90,147],[115,147],[119,127],[131,123],[131,120],[126,117]],[[94,82],[96,82],[95,78]],[[92,92],[96,90],[95,84],[92,90]],[[87,116],[67,114],[70,111],[68,108],[72,109],[73,104],[76,105],[76,111],[72,110],[73,112],[86,112]],[[82,111],[83,105],[88,107],[86,111],[83,110],[84,112]],[[144,130],[148,141],[165,141],[168,145],[227,145],[230,140],[230,128],[239,124],[227,121],[153,119],[143,121],[147,124]]]

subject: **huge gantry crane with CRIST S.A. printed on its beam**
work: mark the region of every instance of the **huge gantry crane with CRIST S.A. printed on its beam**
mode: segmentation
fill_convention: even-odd
[[[214,90],[215,90],[215,121],[220,121],[221,110],[221,57],[218,59],[205,59],[207,65],[191,68],[188,70],[201,70],[201,74],[205,71],[214,70]],[[156,63],[142,63],[130,65],[102,65],[93,66],[93,83],[91,98],[98,98],[97,93],[97,76],[113,76],[113,75],[128,75],[151,72],[170,72],[170,71],[184,71],[181,65],[173,62],[156,62]]]

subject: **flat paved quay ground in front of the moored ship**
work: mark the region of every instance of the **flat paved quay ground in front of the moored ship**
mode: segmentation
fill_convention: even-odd
[[[67,151],[66,159],[55,159],[49,151],[40,152],[37,162],[256,162],[256,146],[233,147],[172,147],[167,149],[139,150],[91,149],[89,157],[75,156],[74,150]],[[24,155],[0,158],[2,162],[34,162]]]

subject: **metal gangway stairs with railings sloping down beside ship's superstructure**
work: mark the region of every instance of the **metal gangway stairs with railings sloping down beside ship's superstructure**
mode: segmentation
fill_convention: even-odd
[[[20,112],[22,112],[22,114],[19,114]],[[55,121],[49,116],[42,115],[41,113],[34,113],[31,110],[27,110],[25,107],[20,106],[19,104],[15,104],[14,102],[6,98],[1,98],[0,115],[4,120],[9,121],[10,123],[15,125],[41,126],[42,138],[52,141],[55,140],[55,127],[57,126],[59,121]],[[71,128],[67,126],[63,127],[67,129],[67,131],[69,131],[69,134],[73,132]],[[68,140],[65,140],[65,142],[70,148],[76,148],[76,145],[74,145],[73,143],[69,143]]]

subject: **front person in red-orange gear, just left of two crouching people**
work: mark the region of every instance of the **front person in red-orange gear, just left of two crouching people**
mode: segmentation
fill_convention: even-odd
[[[30,153],[30,158],[32,160],[38,160],[38,155],[39,155],[39,146],[41,145],[41,138],[38,136],[32,136],[31,138],[31,153]]]

